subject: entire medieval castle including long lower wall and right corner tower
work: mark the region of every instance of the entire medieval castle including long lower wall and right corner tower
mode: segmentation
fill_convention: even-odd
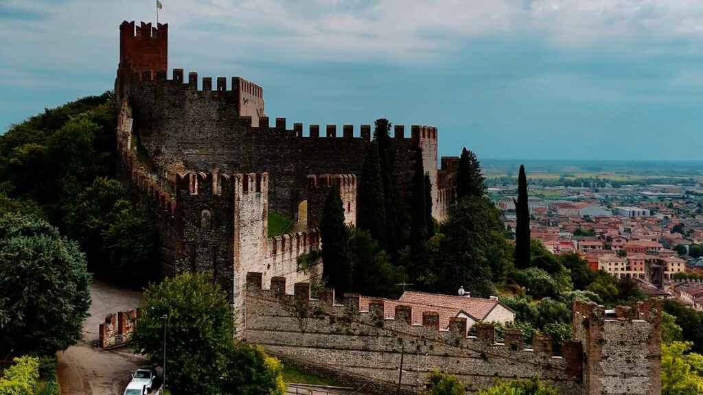
[[[321,136],[310,125],[264,112],[263,89],[240,77],[167,78],[168,25],[120,25],[120,65],[115,96],[117,173],[131,197],[148,209],[159,231],[160,269],[165,276],[211,271],[238,313],[238,337],[305,370],[380,393],[423,390],[430,370],[458,375],[475,392],[496,378],[541,377],[561,394],[660,394],[661,306],[639,304],[614,313],[576,302],[574,339],[553,356],[551,339],[537,336],[524,349],[522,332],[476,325],[467,336],[463,318],[439,328],[434,311],[412,325],[411,306],[398,305],[384,318],[384,302],[361,311],[358,294],[334,290],[311,298],[319,273],[297,268],[297,257],[321,247],[316,230],[329,188],[340,188],[344,219],[356,222],[357,175],[371,141],[369,125],[359,135],[327,125]],[[421,150],[432,184],[432,215],[443,221],[453,203],[456,158],[437,162],[437,129],[394,127],[399,190],[408,197],[414,154]],[[269,209],[297,219],[307,205],[307,229],[268,237]],[[264,285],[267,285],[269,289]],[[105,339],[122,334],[127,317],[108,320]],[[115,322],[117,322],[117,324]],[[115,330],[115,325],[117,329]],[[122,328],[122,329],[120,329]],[[122,332],[121,332],[122,330]],[[104,332],[104,333],[103,333]],[[405,353],[407,365],[401,368]],[[400,382],[399,371],[405,371]]]

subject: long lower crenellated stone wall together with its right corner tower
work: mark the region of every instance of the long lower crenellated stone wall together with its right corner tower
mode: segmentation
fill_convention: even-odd
[[[247,273],[247,342],[310,373],[378,394],[396,394],[401,360],[402,394],[423,393],[432,370],[457,375],[470,393],[517,377],[547,380],[562,395],[661,393],[647,384],[660,380],[653,370],[659,358],[654,349],[661,344],[658,302],[638,305],[646,319],[603,314],[593,326],[583,325],[581,316],[599,316],[602,306],[579,302],[573,325],[580,329],[574,341],[563,344],[562,356],[554,356],[548,336],[536,335],[534,348],[524,349],[517,330],[506,330],[504,342],[496,343],[492,325],[477,324],[476,335],[467,336],[465,318],[451,318],[449,328],[439,328],[439,314],[423,311],[422,325],[411,325],[411,306],[397,305],[395,317],[384,319],[382,300],[359,311],[359,294],[344,294],[336,304],[332,289],[312,299],[307,283],[295,284],[293,294],[284,291],[289,287],[284,278],[271,278],[269,289],[263,284],[261,273]],[[636,335],[624,339],[628,331]],[[584,337],[602,339],[600,348]],[[645,370],[635,373],[638,369]],[[621,371],[631,376],[611,380],[622,377]]]

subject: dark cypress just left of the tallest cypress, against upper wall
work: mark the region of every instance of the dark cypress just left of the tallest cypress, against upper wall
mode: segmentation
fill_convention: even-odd
[[[359,211],[356,226],[371,233],[382,249],[386,247],[386,208],[378,159],[378,146],[371,143],[363,160],[359,180]]]

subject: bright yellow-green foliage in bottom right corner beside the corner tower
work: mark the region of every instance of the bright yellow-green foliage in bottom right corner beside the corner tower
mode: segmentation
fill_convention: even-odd
[[[688,354],[691,342],[662,344],[662,395],[703,394],[703,356]]]

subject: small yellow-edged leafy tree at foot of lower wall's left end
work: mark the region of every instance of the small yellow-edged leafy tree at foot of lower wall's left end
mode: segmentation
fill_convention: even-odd
[[[247,344],[227,347],[222,392],[237,395],[285,395],[283,365],[264,349]]]

